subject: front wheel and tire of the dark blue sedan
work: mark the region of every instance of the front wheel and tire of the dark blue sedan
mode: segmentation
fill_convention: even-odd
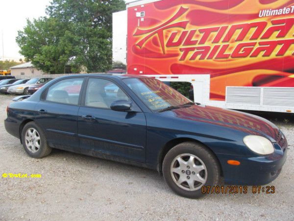
[[[207,147],[196,142],[174,146],[163,160],[162,172],[172,191],[188,198],[202,197],[203,186],[221,182],[219,161]]]

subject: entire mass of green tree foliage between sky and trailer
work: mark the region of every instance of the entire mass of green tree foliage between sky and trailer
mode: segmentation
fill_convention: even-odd
[[[48,17],[19,31],[20,53],[47,73],[104,72],[112,67],[112,13],[125,9],[123,0],[53,0]]]

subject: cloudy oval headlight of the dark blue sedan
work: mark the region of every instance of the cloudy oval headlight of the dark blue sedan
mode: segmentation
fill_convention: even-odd
[[[261,136],[248,135],[243,138],[243,142],[250,150],[260,155],[268,155],[274,151],[270,140]]]

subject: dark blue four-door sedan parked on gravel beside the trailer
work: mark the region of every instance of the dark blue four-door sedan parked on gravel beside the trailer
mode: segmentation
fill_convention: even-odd
[[[5,128],[31,157],[58,148],[156,169],[175,193],[191,198],[221,178],[271,182],[288,145],[268,120],[192,103],[156,79],[132,75],[54,79],[11,103]]]

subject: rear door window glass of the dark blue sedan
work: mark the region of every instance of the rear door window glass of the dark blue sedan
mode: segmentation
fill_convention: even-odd
[[[77,105],[83,81],[83,78],[72,78],[54,83],[48,89],[46,100]]]

